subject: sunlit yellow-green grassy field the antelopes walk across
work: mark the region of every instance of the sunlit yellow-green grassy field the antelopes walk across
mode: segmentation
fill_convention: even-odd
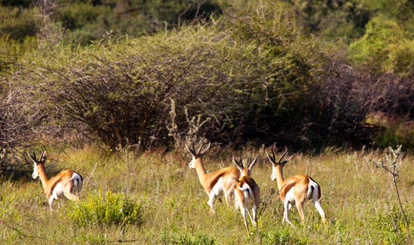
[[[48,149],[49,150],[49,149]],[[296,153],[284,177],[312,176],[325,196],[323,224],[311,201],[304,205],[305,222],[295,208],[282,224],[283,204],[264,149],[231,152],[218,146],[204,157],[207,172],[232,166],[231,154],[259,155],[252,177],[261,188],[258,230],[247,235],[242,217],[224,197],[210,213],[208,197],[190,154],[182,151],[131,151],[111,154],[94,147],[65,152],[48,151],[46,171],[51,177],[73,169],[84,178],[81,204],[54,202],[50,212],[40,181],[0,184],[0,240],[2,244],[407,244],[407,230],[399,209],[392,176],[375,169],[364,157],[383,160],[381,152],[327,149],[320,155]],[[29,175],[29,173],[28,173]],[[414,238],[414,156],[403,159],[399,191],[411,239]],[[105,218],[96,218],[99,217]]]

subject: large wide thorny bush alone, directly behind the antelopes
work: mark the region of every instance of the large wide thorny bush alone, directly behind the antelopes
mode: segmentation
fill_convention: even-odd
[[[302,127],[297,117],[317,103],[306,98],[318,98],[312,88],[326,58],[284,10],[233,6],[233,19],[217,26],[57,48],[27,56],[16,78],[30,91],[22,91],[27,99],[59,108],[50,114],[56,123],[89,132],[112,149],[168,142],[171,100],[180,135],[190,127],[187,119],[198,116],[215,118],[196,133],[212,140],[268,136],[264,128],[295,132]],[[244,11],[256,14],[247,18]],[[39,90],[48,93],[33,93]]]

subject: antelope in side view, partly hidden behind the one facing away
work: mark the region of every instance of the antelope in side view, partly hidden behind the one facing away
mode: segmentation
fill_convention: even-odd
[[[235,167],[227,167],[209,174],[205,173],[204,165],[202,163],[202,156],[207,150],[209,150],[210,143],[200,153],[202,146],[203,142],[201,141],[200,148],[197,152],[195,152],[193,142],[191,142],[192,149],[190,149],[188,145],[185,144],[185,147],[192,156],[192,160],[188,164],[188,167],[190,169],[195,168],[197,171],[198,179],[200,180],[200,183],[205,192],[209,195],[210,199],[208,204],[211,207],[212,213],[214,213],[214,200],[221,192],[224,192],[224,197],[226,199],[227,205],[230,204],[231,194],[240,176],[240,172]]]

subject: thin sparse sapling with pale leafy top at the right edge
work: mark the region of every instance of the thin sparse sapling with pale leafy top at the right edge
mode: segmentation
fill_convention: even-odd
[[[387,172],[389,172],[392,177],[393,177],[393,183],[395,186],[395,191],[397,193],[397,198],[398,198],[398,203],[401,209],[401,213],[404,216],[404,220],[405,220],[405,225],[407,227],[407,237],[408,237],[408,241],[411,244],[411,237],[409,234],[409,224],[408,224],[408,220],[407,217],[405,216],[405,212],[404,209],[402,208],[402,204],[401,204],[401,199],[400,199],[400,195],[398,192],[398,186],[397,186],[397,179],[399,176],[399,171],[401,169],[401,165],[402,165],[402,157],[403,154],[401,154],[401,146],[402,145],[397,145],[397,149],[394,150],[391,148],[390,146],[390,153],[385,155],[385,159],[386,159],[386,163],[382,163],[382,162],[374,162],[372,159],[368,160],[365,159],[365,161],[370,164],[370,165],[374,165],[376,168],[382,168],[384,170],[386,170]]]

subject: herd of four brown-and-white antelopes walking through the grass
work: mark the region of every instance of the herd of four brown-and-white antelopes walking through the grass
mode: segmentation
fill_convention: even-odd
[[[303,222],[304,218],[302,205],[306,200],[311,198],[314,202],[316,210],[322,217],[322,221],[325,222],[326,217],[321,206],[322,197],[319,184],[310,176],[304,174],[298,174],[285,180],[283,178],[283,167],[295,154],[291,155],[287,160],[284,160],[282,162],[282,159],[287,153],[287,148],[285,148],[279,161],[276,162],[275,153],[273,150],[275,145],[276,144],[272,145],[270,148],[272,156],[267,151],[266,155],[272,164],[271,179],[273,181],[276,180],[279,189],[279,197],[284,203],[285,211],[283,213],[282,222],[286,220],[286,222],[293,226],[289,220],[289,211],[294,204],[296,205],[301,221]],[[246,167],[243,166],[241,157],[239,161],[237,161],[233,156],[232,160],[236,167],[227,167],[212,173],[206,173],[202,162],[202,157],[209,150],[210,143],[204,148],[204,150],[202,150],[203,142],[201,141],[201,145],[197,151],[194,149],[193,142],[191,142],[191,148],[187,144],[185,144],[185,146],[187,148],[187,151],[192,156],[192,160],[189,163],[188,167],[190,169],[195,168],[198,179],[204,188],[205,193],[209,196],[208,204],[211,208],[211,212],[213,214],[215,212],[214,201],[218,195],[223,192],[226,203],[229,206],[231,203],[232,194],[234,194],[235,208],[240,209],[247,233],[249,231],[249,228],[247,224],[246,213],[249,215],[251,223],[256,228],[258,228],[257,208],[260,204],[260,188],[254,179],[250,176],[251,170],[256,164],[258,156],[256,156],[253,161],[251,161],[251,158],[248,157]],[[38,160],[36,159],[34,151],[33,156],[29,153],[27,154],[29,155],[30,160],[34,163],[32,177],[34,179],[40,177],[40,181],[43,185],[44,193],[46,194],[51,211],[53,211],[53,201],[59,197],[62,197],[62,195],[64,195],[69,200],[80,202],[78,195],[81,191],[83,181],[80,174],[76,173],[73,170],[64,170],[58,175],[48,179],[44,171],[46,152],[42,151]],[[248,205],[251,205],[253,217],[248,210]]]

